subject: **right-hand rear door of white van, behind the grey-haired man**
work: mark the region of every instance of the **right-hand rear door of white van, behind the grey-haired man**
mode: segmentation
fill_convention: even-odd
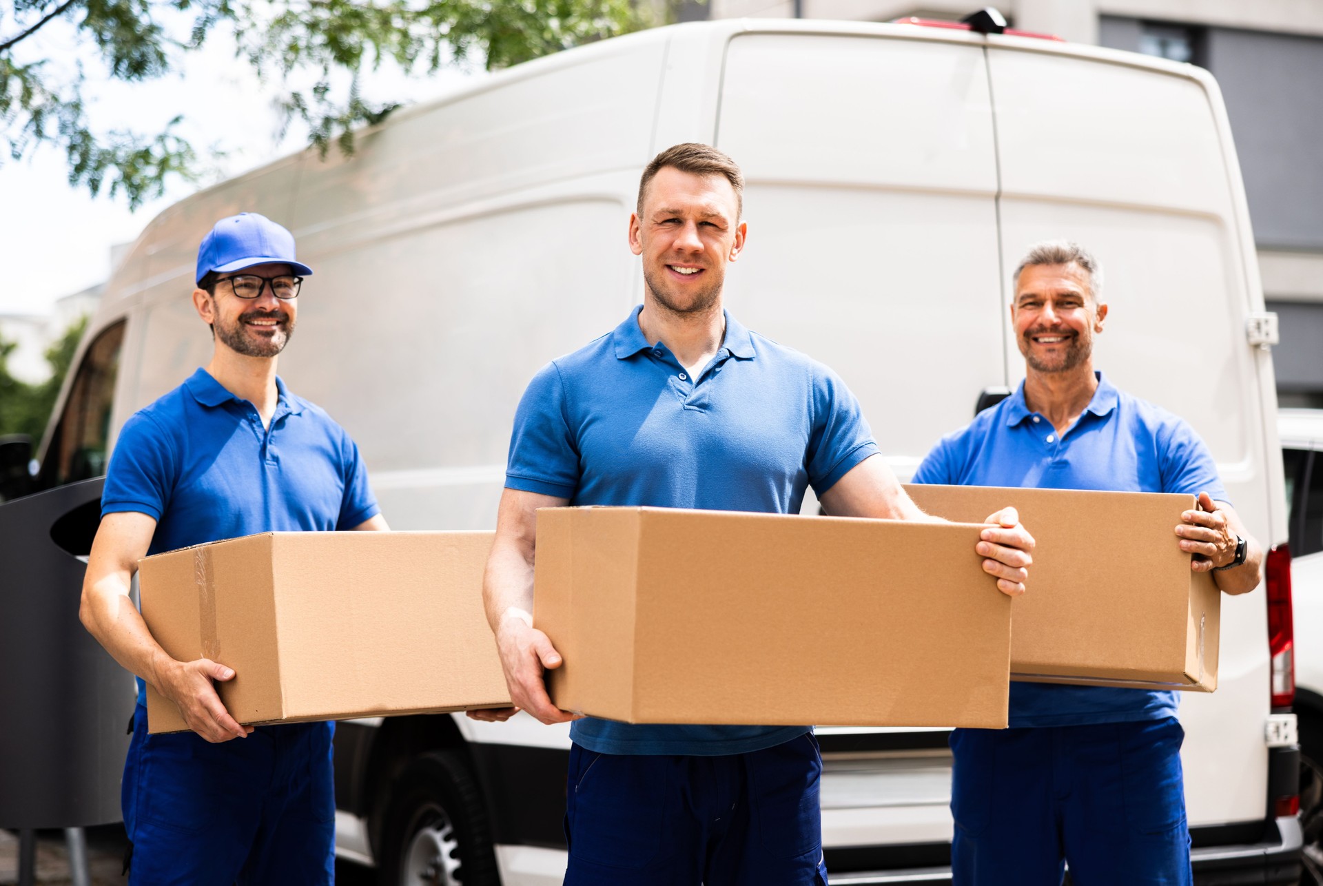
[[[1048,238],[1094,253],[1110,305],[1095,365],[1199,431],[1236,509],[1269,542],[1263,405],[1244,332],[1248,229],[1237,222],[1240,180],[1213,99],[1195,77],[1121,63],[990,49],[988,65],[1005,267]],[[1007,346],[1016,356],[1012,340]],[[1012,378],[1023,377],[1023,362],[1011,365]],[[1222,607],[1218,690],[1181,698],[1195,825],[1263,815],[1266,610],[1258,592],[1224,596]]]

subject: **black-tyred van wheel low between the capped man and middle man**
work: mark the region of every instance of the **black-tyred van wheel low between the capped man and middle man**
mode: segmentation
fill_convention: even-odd
[[[419,754],[392,784],[381,886],[500,886],[491,824],[460,751]]]

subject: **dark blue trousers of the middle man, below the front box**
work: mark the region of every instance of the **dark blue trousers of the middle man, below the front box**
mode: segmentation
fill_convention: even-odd
[[[804,734],[724,756],[570,748],[566,886],[826,886]]]

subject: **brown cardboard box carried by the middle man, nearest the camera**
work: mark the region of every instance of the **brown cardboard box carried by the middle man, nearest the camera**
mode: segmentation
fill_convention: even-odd
[[[1003,727],[1011,599],[980,529],[538,510],[552,700],[631,723]]]

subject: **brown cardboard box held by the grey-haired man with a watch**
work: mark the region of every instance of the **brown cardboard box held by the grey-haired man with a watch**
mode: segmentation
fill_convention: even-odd
[[[1195,497],[1147,492],[906,487],[929,513],[984,520],[1007,505],[1037,540],[1015,602],[1011,678],[1217,689],[1221,591],[1176,545]]]

